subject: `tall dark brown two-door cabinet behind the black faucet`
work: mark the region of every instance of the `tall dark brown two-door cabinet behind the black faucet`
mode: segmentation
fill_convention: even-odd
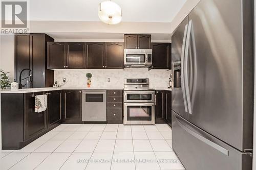
[[[54,39],[46,34],[15,34],[14,69],[15,79],[19,83],[20,72],[31,69],[32,87],[52,87],[54,81],[53,70],[47,69],[46,45]],[[22,85],[29,77],[29,70],[22,72]],[[25,79],[27,78],[27,79]],[[24,87],[26,88],[26,86]]]

